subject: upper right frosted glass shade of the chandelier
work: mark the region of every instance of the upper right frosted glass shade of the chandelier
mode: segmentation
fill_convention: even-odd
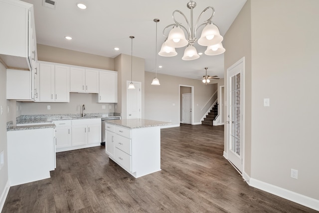
[[[218,27],[212,23],[204,27],[197,42],[202,46],[211,46],[222,42],[222,40],[223,36],[220,35]]]

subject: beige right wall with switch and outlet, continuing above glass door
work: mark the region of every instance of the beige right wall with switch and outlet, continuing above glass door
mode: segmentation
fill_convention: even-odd
[[[245,56],[244,172],[316,200],[318,8],[317,0],[248,0],[224,38],[225,69]]]

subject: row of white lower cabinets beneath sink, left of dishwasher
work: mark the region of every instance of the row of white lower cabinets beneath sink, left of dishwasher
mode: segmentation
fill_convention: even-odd
[[[56,125],[56,152],[100,146],[101,119],[54,121]]]

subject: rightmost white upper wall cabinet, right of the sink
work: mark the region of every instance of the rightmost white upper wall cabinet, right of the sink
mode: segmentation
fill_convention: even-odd
[[[100,71],[99,77],[99,103],[118,102],[118,72]]]

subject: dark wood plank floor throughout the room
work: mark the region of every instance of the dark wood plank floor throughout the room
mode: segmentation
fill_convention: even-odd
[[[161,171],[138,179],[104,147],[57,153],[51,178],[11,187],[3,213],[301,213],[249,187],[222,156],[223,126],[161,130]]]

